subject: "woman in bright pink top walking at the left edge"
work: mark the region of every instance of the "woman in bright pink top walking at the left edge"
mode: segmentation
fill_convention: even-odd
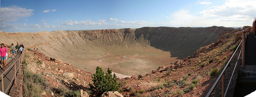
[[[1,60],[2,60],[2,70],[5,71],[6,69],[6,59],[8,56],[6,56],[7,49],[4,47],[4,44],[1,44],[0,48],[0,55],[1,55]]]

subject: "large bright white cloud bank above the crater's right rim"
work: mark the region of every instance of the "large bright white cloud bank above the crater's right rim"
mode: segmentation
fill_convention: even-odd
[[[170,19],[169,25],[174,27],[250,26],[256,12],[254,4],[255,0],[226,0],[224,4],[212,6],[197,16],[190,10],[180,9],[167,18]]]

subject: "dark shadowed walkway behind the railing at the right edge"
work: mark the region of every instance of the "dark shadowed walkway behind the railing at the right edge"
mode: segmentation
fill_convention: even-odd
[[[256,91],[256,36],[246,39],[245,68],[239,72],[236,97],[244,97]]]

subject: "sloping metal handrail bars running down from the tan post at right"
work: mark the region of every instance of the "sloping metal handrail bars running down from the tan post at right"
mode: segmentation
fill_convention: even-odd
[[[238,47],[236,48],[236,51],[238,51],[238,48],[240,47],[242,41],[240,42],[240,44],[238,45]],[[214,85],[212,86],[212,88],[210,89],[210,91],[207,93],[206,97],[209,97],[213,91],[213,89],[216,87],[217,83],[220,81],[220,77],[222,77],[222,97],[225,97],[226,96],[226,92],[228,91],[228,87],[226,89],[226,92],[225,92],[225,95],[224,95],[224,71],[226,71],[226,68],[228,67],[228,64],[230,63],[231,59],[234,57],[234,55],[236,54],[236,51],[234,51],[232,57],[230,58],[230,60],[228,61],[228,63],[226,64],[226,66],[224,67],[224,69],[222,70],[222,72],[220,73],[220,76],[218,77],[218,79],[215,81]],[[241,52],[241,51],[240,51]],[[241,53],[240,53],[241,54]],[[240,56],[239,54],[239,56]],[[238,57],[239,58],[239,57]],[[237,58],[237,61],[236,61],[236,64],[238,63],[238,58]],[[236,67],[234,67],[234,70],[236,69]],[[230,77],[230,81],[234,75],[234,70],[233,70],[233,73]],[[228,84],[228,86],[230,85],[230,82]]]

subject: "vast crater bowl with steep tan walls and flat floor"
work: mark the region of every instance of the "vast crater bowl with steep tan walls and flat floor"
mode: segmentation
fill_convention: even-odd
[[[196,49],[216,42],[234,28],[108,29],[36,33],[0,32],[0,42],[19,42],[38,48],[46,56],[59,57],[79,69],[103,70],[125,75],[146,74],[152,69],[192,55]]]

